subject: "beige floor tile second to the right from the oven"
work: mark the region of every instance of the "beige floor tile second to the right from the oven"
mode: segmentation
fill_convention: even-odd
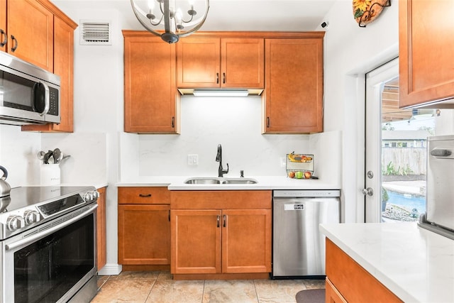
[[[204,281],[157,280],[146,302],[200,303],[203,293]]]

